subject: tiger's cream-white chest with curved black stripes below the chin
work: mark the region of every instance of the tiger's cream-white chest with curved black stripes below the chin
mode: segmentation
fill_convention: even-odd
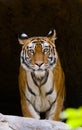
[[[54,89],[53,73],[51,71],[40,74],[28,72],[25,94],[27,103],[36,113],[51,111],[57,96]]]

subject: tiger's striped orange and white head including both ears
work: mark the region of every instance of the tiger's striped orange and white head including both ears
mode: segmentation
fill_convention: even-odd
[[[25,70],[40,72],[55,67],[58,57],[55,30],[51,30],[46,37],[28,38],[27,34],[21,33],[18,40],[22,44],[20,61]]]

